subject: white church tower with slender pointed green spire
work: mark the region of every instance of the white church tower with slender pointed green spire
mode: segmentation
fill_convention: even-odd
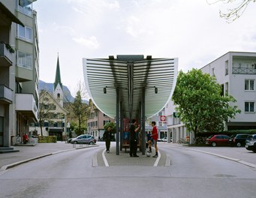
[[[56,101],[59,102],[61,107],[63,107],[63,97],[64,95],[63,95],[61,73],[59,69],[59,55],[58,55],[55,82],[53,83],[53,98],[55,98]]]

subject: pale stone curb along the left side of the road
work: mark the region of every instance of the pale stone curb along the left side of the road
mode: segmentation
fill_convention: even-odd
[[[80,148],[71,148],[71,149],[62,150],[62,151],[56,151],[56,152],[53,152],[53,153],[42,154],[42,155],[39,155],[37,157],[32,157],[32,158],[29,158],[27,160],[21,160],[21,161],[18,161],[18,162],[14,162],[14,163],[10,163],[8,165],[2,166],[0,168],[0,172],[5,171],[6,169],[14,168],[15,166],[19,166],[20,164],[27,163],[27,162],[32,161],[32,160],[38,160],[42,157],[50,156],[52,154],[58,154],[58,153],[62,153],[62,152],[65,152],[65,151],[73,151],[73,150],[78,150],[78,149],[82,149],[82,148],[92,148],[92,147],[97,147],[97,146],[99,146],[99,145],[91,145],[91,146],[80,147]]]

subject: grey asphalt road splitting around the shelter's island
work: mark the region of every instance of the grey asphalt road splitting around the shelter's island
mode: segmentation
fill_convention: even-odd
[[[101,143],[42,157],[2,172],[0,197],[255,197],[256,169],[218,156],[233,148],[213,148],[220,153],[212,154],[212,147],[198,151],[167,143],[158,146],[170,156],[170,166],[92,166],[95,154],[104,151]]]

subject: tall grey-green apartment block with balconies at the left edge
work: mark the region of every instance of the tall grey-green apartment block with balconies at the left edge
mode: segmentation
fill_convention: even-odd
[[[39,49],[34,1],[0,0],[0,98],[4,98],[0,99],[0,145],[5,147],[15,144],[15,136],[29,133],[30,122],[38,121]]]

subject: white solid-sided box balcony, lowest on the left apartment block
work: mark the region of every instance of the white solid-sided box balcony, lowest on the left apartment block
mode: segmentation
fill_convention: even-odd
[[[16,110],[26,115],[30,121],[38,121],[38,107],[32,94],[16,94]]]

